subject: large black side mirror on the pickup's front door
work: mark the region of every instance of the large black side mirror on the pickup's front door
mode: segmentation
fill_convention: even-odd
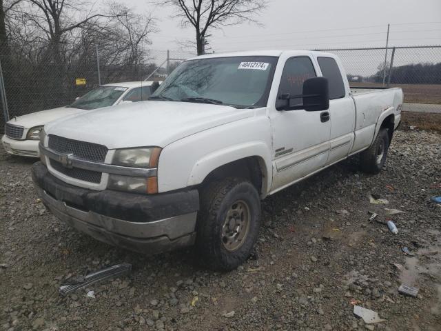
[[[300,95],[280,94],[276,101],[277,110],[306,110],[316,112],[329,108],[329,83],[325,77],[313,77],[303,82]],[[291,105],[291,100],[302,99],[302,103]]]

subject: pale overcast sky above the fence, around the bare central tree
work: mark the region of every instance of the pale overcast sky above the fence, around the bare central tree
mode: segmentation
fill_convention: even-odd
[[[152,49],[177,50],[177,40],[194,39],[193,28],[181,28],[170,17],[172,8],[155,6],[152,0],[121,1],[158,19]],[[384,46],[387,23],[391,46],[441,44],[441,0],[270,0],[259,21],[263,27],[244,23],[212,30],[212,49]]]

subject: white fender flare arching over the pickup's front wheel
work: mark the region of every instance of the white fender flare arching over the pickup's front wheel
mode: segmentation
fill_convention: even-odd
[[[265,197],[272,183],[270,150],[271,149],[263,141],[250,141],[216,150],[194,163],[192,172],[190,172],[188,177],[187,186],[202,183],[210,172],[222,165],[247,157],[258,157],[260,159],[260,169],[263,174],[262,192],[260,192],[260,195]]]

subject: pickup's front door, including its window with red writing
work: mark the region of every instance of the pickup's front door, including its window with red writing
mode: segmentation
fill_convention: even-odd
[[[303,82],[316,77],[314,63],[307,56],[285,62],[278,94],[302,94]],[[302,100],[298,99],[298,103]],[[296,100],[291,101],[291,104]],[[329,112],[277,111],[271,107],[274,177],[272,192],[302,179],[325,166],[329,155],[331,121]]]

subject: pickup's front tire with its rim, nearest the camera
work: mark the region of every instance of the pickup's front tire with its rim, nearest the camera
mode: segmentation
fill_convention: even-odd
[[[196,256],[206,268],[234,270],[251,254],[260,228],[260,198],[245,179],[227,178],[201,190]]]

